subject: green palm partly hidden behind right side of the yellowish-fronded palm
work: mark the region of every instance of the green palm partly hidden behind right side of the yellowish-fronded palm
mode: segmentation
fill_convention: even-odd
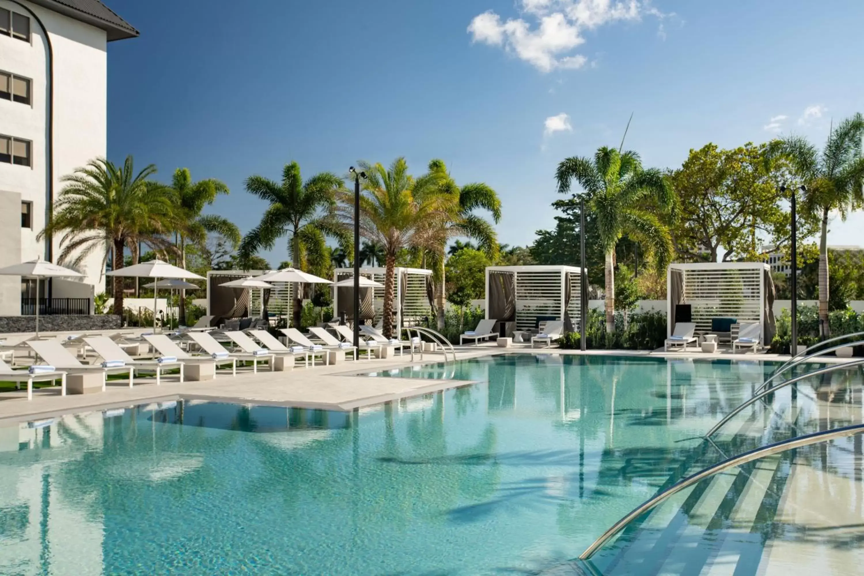
[[[454,211],[450,217],[442,221],[439,230],[439,239],[435,249],[430,251],[429,264],[433,267],[435,280],[435,308],[438,329],[444,327],[444,250],[450,238],[469,237],[477,241],[477,249],[486,253],[486,256],[494,262],[498,258],[499,245],[498,234],[485,218],[474,213],[478,209],[484,209],[492,213],[492,221],[498,224],[501,219],[501,200],[498,193],[492,187],[482,183],[473,182],[464,186],[458,186],[447,171],[447,166],[441,160],[429,162],[429,174],[436,174],[439,178],[441,193],[448,194],[455,199]],[[457,240],[457,245],[459,241]],[[473,247],[469,242],[467,246]],[[466,246],[466,247],[467,247]]]

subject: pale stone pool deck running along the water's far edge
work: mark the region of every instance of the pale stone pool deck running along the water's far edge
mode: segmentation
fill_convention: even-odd
[[[457,349],[458,359],[487,357],[500,353],[562,354],[630,356],[649,358],[732,359],[749,361],[784,361],[788,356],[777,354],[718,353],[673,351],[578,351],[557,348],[511,347],[497,345],[468,345]],[[104,393],[60,396],[60,388],[35,389],[33,400],[27,401],[26,390],[0,394],[0,423],[3,421],[28,421],[94,409],[120,408],[132,404],[176,400],[178,398],[209,400],[213,402],[235,402],[274,404],[295,408],[319,408],[326,410],[352,410],[382,402],[390,402],[410,396],[430,394],[444,389],[464,386],[464,380],[432,380],[420,378],[367,377],[366,373],[394,370],[412,364],[435,364],[442,362],[442,354],[426,353],[422,360],[417,356],[412,362],[405,354],[386,360],[346,361],[340,364],[314,368],[297,367],[284,372],[238,369],[237,377],[220,370],[215,380],[206,382],[179,383],[176,377],[162,377],[156,386],[152,377],[136,377],[136,385],[129,388],[124,381],[110,382]],[[826,358],[825,362],[842,361],[842,358]]]

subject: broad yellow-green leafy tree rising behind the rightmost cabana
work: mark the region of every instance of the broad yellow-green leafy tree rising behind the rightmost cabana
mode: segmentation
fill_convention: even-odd
[[[766,162],[766,145],[747,142],[736,149],[709,143],[691,149],[670,176],[678,197],[672,240],[685,261],[755,259],[759,239],[783,246],[790,237],[790,213],[781,202],[785,162]],[[803,237],[808,230],[802,229]],[[722,254],[720,250],[722,248]]]

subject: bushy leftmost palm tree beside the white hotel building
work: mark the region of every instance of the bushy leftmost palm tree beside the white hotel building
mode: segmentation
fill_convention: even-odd
[[[75,168],[73,174],[60,181],[66,186],[54,203],[54,216],[39,239],[62,234],[59,263],[77,267],[94,251],[111,247],[111,269],[123,268],[124,249],[137,250],[143,242],[154,250],[171,250],[162,234],[170,229],[174,204],[166,187],[148,180],[156,174],[149,164],[137,174],[132,156],[126,156],[122,166],[105,158],[87,162]],[[114,313],[123,314],[123,278],[114,278]]]

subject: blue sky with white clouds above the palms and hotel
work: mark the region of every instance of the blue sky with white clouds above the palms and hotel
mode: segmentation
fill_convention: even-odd
[[[631,112],[627,148],[666,168],[707,142],[821,144],[864,108],[854,1],[106,3],[141,31],[109,47],[109,156],[224,180],[213,212],[242,231],[264,210],[250,174],[403,155],[490,184],[500,241],[530,244],[553,225],[557,162],[617,145]],[[864,244],[862,225],[837,220],[829,240]]]

